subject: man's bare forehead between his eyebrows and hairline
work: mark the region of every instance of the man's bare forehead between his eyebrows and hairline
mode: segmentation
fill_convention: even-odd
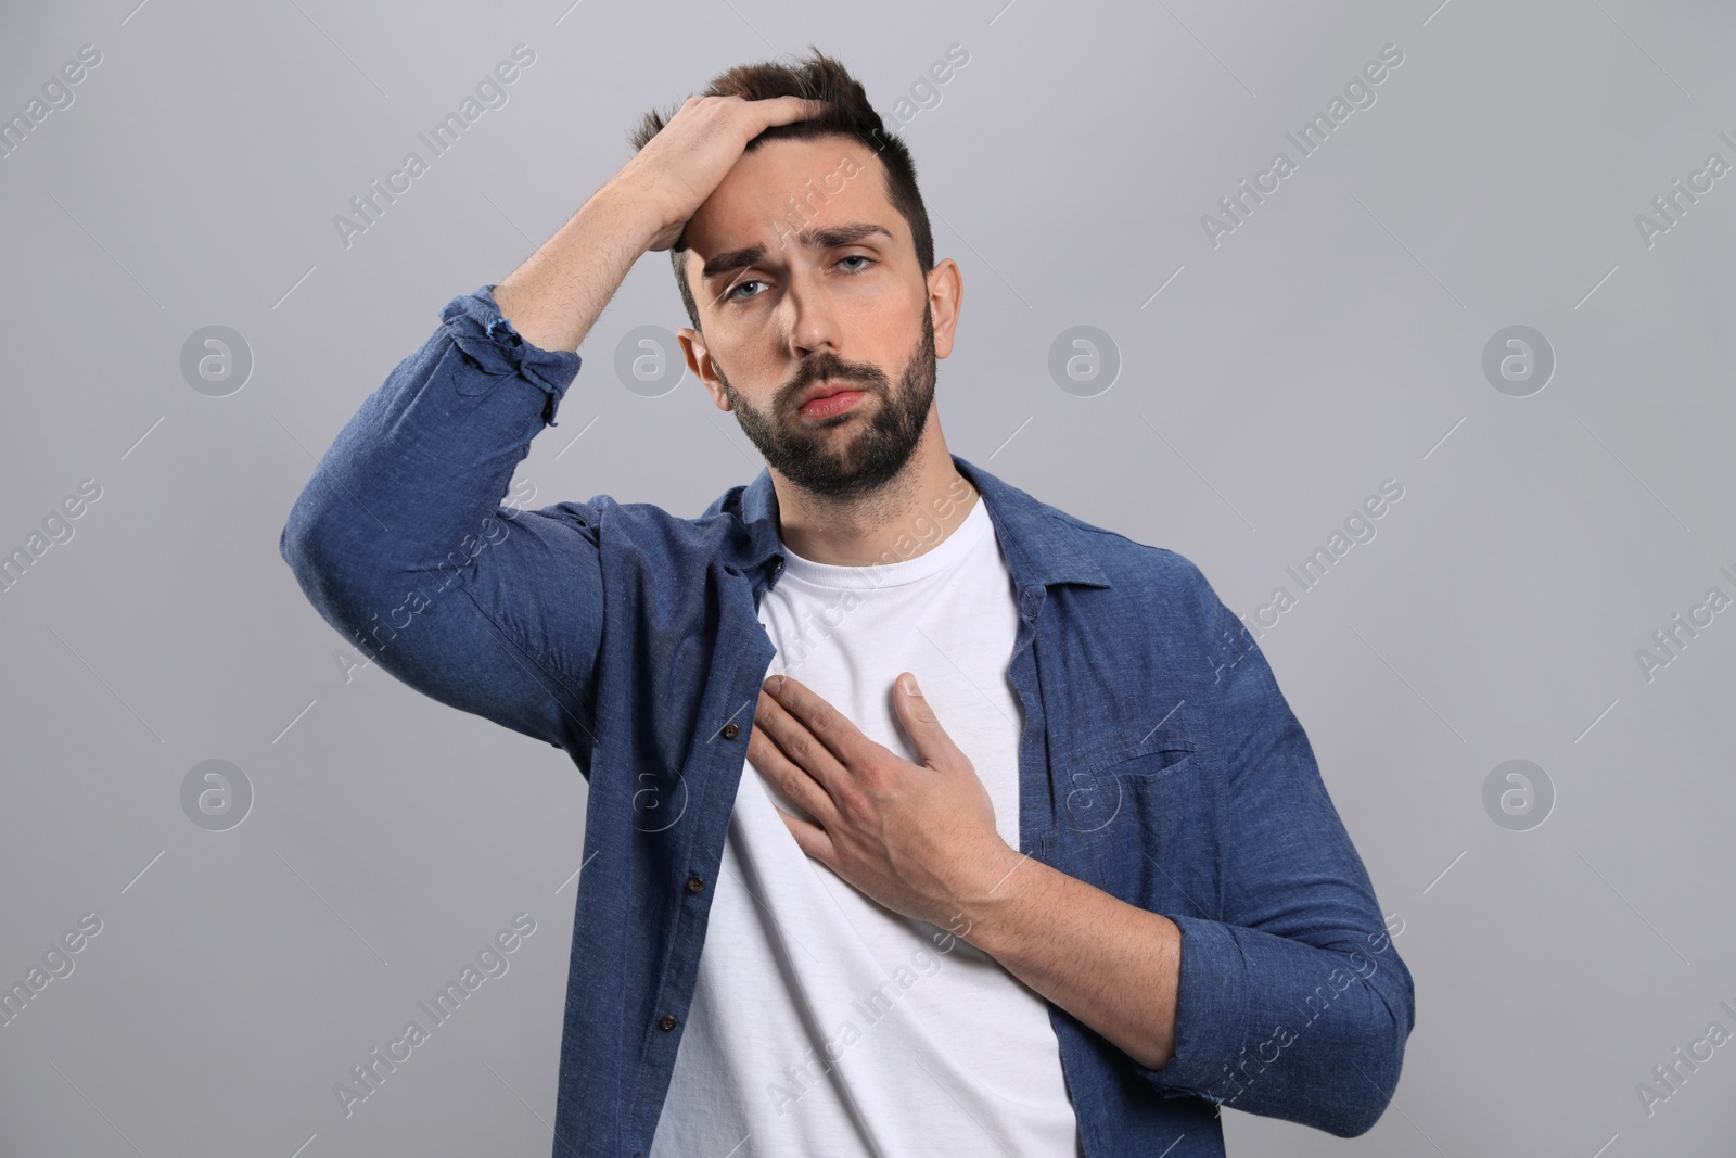
[[[906,233],[873,149],[842,135],[783,137],[741,155],[687,222],[686,241],[701,262],[750,245],[776,259],[779,248],[793,248],[800,229],[863,220],[885,226],[894,238]]]

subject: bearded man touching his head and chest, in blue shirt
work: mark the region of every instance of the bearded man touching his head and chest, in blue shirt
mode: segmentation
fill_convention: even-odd
[[[587,776],[556,1155],[1368,1130],[1411,977],[1309,741],[1198,568],[946,450],[962,276],[861,85],[736,68],[635,144],[283,533],[387,670]],[[767,469],[698,519],[502,507],[648,250]]]

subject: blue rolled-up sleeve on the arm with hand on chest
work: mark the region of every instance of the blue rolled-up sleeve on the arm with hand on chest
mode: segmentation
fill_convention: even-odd
[[[1240,648],[1212,682],[1224,911],[1170,915],[1182,931],[1175,1052],[1137,1069],[1165,1094],[1352,1137],[1397,1087],[1411,976],[1266,656],[1215,595],[1207,606],[1213,635]]]

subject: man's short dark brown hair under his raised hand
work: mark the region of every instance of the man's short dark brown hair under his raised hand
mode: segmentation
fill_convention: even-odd
[[[840,135],[863,142],[880,158],[885,167],[885,196],[892,208],[903,215],[910,226],[910,238],[917,247],[917,264],[927,274],[934,269],[934,233],[929,229],[929,210],[922,205],[922,193],[917,189],[917,165],[910,158],[904,142],[885,130],[885,123],[873,106],[861,83],[849,75],[838,61],[825,56],[809,45],[809,57],[795,64],[762,63],[738,64],[719,73],[710,87],[701,94],[707,97],[743,97],[746,101],[766,101],[769,97],[804,97],[809,101],[826,101],[830,108],[818,120],[793,122],[790,125],[773,125],[753,137],[746,151],[752,153],[764,141],[783,137],[809,141],[812,137]],[[668,113],[674,116],[681,106]],[[644,115],[639,128],[632,132],[634,149],[642,149],[651,142],[668,118],[656,109]],[[670,264],[675,267],[675,283],[681,286],[681,300],[687,307],[693,328],[700,328],[700,306],[693,300],[687,286],[687,238],[686,233],[675,240],[668,250]]]

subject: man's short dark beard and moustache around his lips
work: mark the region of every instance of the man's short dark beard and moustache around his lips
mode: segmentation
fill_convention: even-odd
[[[904,469],[922,441],[929,408],[934,405],[934,314],[927,306],[922,311],[922,337],[904,363],[896,391],[878,366],[844,361],[830,351],[819,351],[778,389],[766,410],[757,410],[736,392],[722,366],[717,366],[717,380],[724,385],[741,432],[766,455],[766,462],[802,490],[828,498],[870,495]],[[840,415],[818,422],[802,418],[802,396],[812,384],[828,380],[865,391],[878,399],[878,406],[868,408],[870,399],[861,398]],[[865,408],[868,417],[863,417]],[[861,429],[854,438],[835,438],[832,427],[845,424]]]

